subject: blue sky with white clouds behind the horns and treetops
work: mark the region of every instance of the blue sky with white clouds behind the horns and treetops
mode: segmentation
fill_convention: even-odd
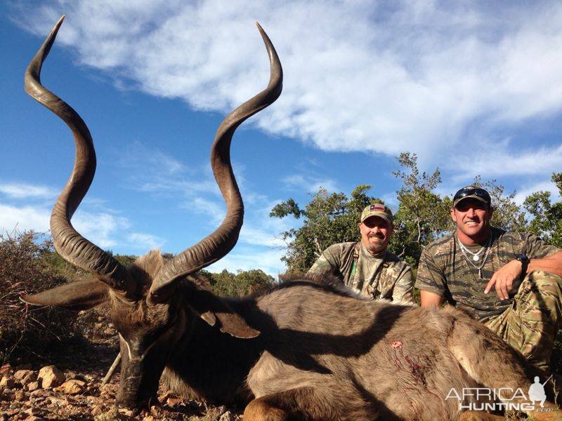
[[[529,5],[528,3],[532,3]],[[396,156],[439,167],[450,194],[480,174],[555,192],[562,168],[558,1],[5,1],[0,5],[0,229],[48,230],[72,168],[66,126],[22,88],[27,62],[66,14],[41,80],[88,124],[98,155],[73,224],[98,246],[178,253],[224,205],[209,168],[216,127],[285,72],[274,105],[237,130],[246,205],[235,249],[209,269],[285,269],[275,203],[358,184],[396,206]]]

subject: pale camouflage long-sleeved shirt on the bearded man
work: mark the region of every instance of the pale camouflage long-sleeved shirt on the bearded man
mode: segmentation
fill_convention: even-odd
[[[389,251],[373,256],[360,242],[329,246],[308,273],[336,276],[353,290],[374,300],[414,302],[414,276],[410,266]]]

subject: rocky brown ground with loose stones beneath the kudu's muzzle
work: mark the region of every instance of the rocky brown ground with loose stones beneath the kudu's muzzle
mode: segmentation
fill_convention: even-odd
[[[117,333],[105,328],[96,339],[66,349],[48,364],[0,368],[1,420],[205,420],[235,421],[240,415],[223,406],[184,401],[162,387],[150,410],[115,411],[119,369],[107,385],[105,373],[117,356]]]

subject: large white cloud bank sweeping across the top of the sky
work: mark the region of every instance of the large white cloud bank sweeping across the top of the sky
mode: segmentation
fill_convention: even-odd
[[[256,124],[324,150],[409,150],[426,161],[476,120],[486,133],[561,110],[562,4],[493,7],[77,0],[33,6],[21,25],[43,36],[64,11],[60,43],[79,62],[121,85],[226,112],[266,84],[257,19],[280,54],[285,86]]]

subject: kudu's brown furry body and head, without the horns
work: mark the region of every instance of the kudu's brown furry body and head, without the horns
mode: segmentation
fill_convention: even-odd
[[[445,400],[453,387],[526,392],[535,375],[546,378],[452,307],[374,302],[322,277],[227,299],[188,276],[169,300],[152,302],[148,290],[164,263],[155,251],[128,268],[138,286],[132,302],[100,293],[99,281],[33,297],[74,309],[110,297],[122,406],[148,402],[162,377],[182,396],[247,405],[248,420],[455,420],[458,401]]]

